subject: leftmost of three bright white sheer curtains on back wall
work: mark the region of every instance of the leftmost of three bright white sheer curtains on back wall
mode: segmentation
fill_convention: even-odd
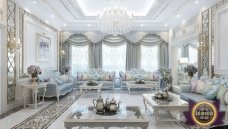
[[[72,75],[89,69],[89,46],[72,46],[71,56]]]

